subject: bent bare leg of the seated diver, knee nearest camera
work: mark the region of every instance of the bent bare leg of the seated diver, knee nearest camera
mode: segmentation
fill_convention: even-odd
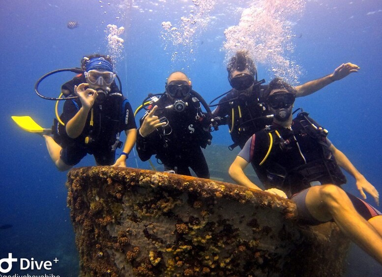
[[[382,237],[354,209],[352,201],[340,187],[311,187],[305,199],[309,212],[320,221],[331,218],[355,244],[382,264]]]

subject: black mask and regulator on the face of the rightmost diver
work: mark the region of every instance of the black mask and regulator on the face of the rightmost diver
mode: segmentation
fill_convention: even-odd
[[[268,97],[268,105],[275,110],[274,117],[281,122],[287,121],[292,114],[294,94],[290,92],[274,93]]]

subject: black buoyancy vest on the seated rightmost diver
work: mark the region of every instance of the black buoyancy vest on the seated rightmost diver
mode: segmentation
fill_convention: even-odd
[[[305,112],[297,115],[291,128],[267,126],[257,132],[251,162],[260,180],[288,197],[316,184],[346,183],[326,134]]]

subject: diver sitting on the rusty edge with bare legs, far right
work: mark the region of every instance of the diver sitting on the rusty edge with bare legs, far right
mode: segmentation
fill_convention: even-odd
[[[246,142],[229,169],[230,176],[239,185],[262,190],[243,172],[252,163],[265,191],[294,201],[300,220],[312,225],[334,220],[345,235],[382,264],[382,213],[340,187],[346,183],[340,167],[354,177],[364,199],[367,192],[379,205],[378,191],[306,112],[292,119],[295,93],[280,78],[269,83],[265,97],[269,95],[273,123]]]

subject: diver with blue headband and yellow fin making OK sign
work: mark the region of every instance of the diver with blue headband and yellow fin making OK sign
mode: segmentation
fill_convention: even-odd
[[[59,171],[78,164],[87,154],[94,156],[97,165],[126,166],[133,148],[137,127],[130,103],[115,82],[115,71],[110,56],[93,54],[81,61],[82,69],[58,70],[80,73],[61,87],[65,98],[63,112],[52,129],[38,126],[30,117],[12,117],[23,129],[39,133]],[[57,105],[56,105],[57,107]],[[57,113],[58,114],[58,113]],[[119,134],[124,130],[126,141],[121,155],[116,159],[116,149],[121,148]]]

